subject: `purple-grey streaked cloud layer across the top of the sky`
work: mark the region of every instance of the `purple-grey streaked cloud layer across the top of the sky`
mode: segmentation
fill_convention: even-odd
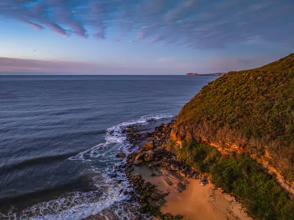
[[[259,38],[294,46],[293,0],[0,0],[0,18],[69,37],[220,49]],[[251,41],[252,42],[252,41]]]

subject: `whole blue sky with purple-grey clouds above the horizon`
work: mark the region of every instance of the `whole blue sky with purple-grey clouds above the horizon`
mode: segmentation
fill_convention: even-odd
[[[294,0],[0,0],[1,74],[220,73],[294,52]]]

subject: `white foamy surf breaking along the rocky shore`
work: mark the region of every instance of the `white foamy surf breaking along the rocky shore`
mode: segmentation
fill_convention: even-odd
[[[119,208],[117,207],[114,213],[121,220],[124,218],[131,219],[133,216],[132,212],[123,209],[122,207],[125,206],[119,204],[128,198],[128,196],[120,194],[120,191],[126,189],[129,183],[125,180],[124,174],[120,172],[117,173],[118,176],[116,178],[110,177],[110,174],[113,172],[113,166],[123,164],[121,159],[115,157],[116,153],[124,151],[126,154],[129,154],[136,150],[135,148],[130,150],[131,145],[127,141],[126,135],[122,133],[122,129],[132,124],[147,124],[148,120],[172,117],[170,114],[148,115],[137,120],[112,126],[107,129],[105,143],[98,144],[91,149],[68,158],[68,160],[79,160],[90,165],[90,170],[97,173],[93,177],[95,186],[98,188],[97,191],[87,193],[73,192],[49,202],[38,203],[23,210],[19,218],[16,217],[15,212],[11,212],[7,216],[1,216],[0,214],[0,217],[5,220],[81,220],[90,215],[98,214],[114,204],[118,204]],[[110,131],[113,132],[112,135],[109,134]],[[95,165],[91,165],[91,163],[95,162],[111,162],[113,166],[97,168]],[[122,180],[121,184],[117,184],[119,179]]]

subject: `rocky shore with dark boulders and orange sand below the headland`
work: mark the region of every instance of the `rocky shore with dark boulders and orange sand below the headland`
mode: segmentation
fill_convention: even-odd
[[[134,124],[123,131],[129,142],[139,148],[127,155],[122,167],[115,168],[123,169],[132,186],[121,193],[129,196],[128,201],[139,204],[134,220],[252,220],[232,195],[223,194],[208,176],[177,161],[166,149],[172,123],[153,130]],[[103,214],[87,218],[103,219]]]

